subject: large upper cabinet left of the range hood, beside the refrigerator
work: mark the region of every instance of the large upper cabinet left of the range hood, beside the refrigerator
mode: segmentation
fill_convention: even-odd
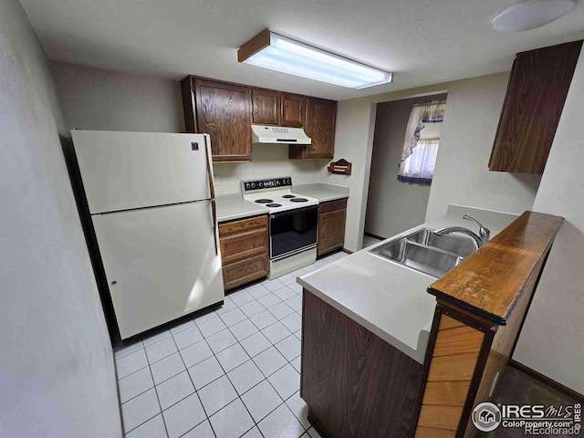
[[[250,89],[193,77],[184,78],[181,89],[186,130],[211,136],[213,161],[251,161]]]

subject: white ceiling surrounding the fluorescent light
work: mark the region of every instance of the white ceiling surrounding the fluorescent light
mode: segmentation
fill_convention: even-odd
[[[584,2],[557,21],[502,33],[516,0],[21,0],[52,60],[178,80],[188,74],[328,99],[351,99],[511,69],[516,52],[584,37]],[[345,89],[240,64],[269,28],[394,72]]]

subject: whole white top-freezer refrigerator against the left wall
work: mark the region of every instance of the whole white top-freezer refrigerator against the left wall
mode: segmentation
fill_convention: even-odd
[[[209,136],[71,133],[121,339],[221,302]]]

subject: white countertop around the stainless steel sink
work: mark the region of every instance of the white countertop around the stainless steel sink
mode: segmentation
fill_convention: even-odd
[[[465,221],[463,214],[484,224],[491,230],[492,237],[516,219],[516,214],[449,205],[448,214],[383,242],[424,227],[437,229],[457,225],[476,231],[476,225]],[[423,363],[436,305],[435,297],[426,289],[435,279],[369,254],[369,250],[378,245],[382,243],[300,276],[297,283]]]

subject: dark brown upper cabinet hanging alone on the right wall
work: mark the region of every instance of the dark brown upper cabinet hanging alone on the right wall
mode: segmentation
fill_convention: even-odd
[[[518,53],[489,170],[543,173],[582,41]]]

